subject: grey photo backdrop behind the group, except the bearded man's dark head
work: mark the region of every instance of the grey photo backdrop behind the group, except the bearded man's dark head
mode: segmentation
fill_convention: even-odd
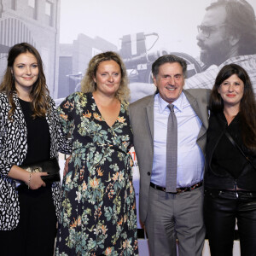
[[[200,58],[202,45],[197,44],[197,26],[202,25],[206,8],[212,2],[0,0],[0,79],[7,65],[9,48],[27,42],[42,55],[50,94],[57,105],[80,89],[80,80],[91,57],[107,50],[118,52],[125,61],[131,102],[154,93],[151,65],[164,54],[176,54],[188,62],[185,88],[212,88],[221,65],[216,65],[213,57],[205,65]],[[256,1],[247,0],[245,3],[250,3],[256,10]],[[237,17],[238,23],[239,19]],[[223,33],[216,29],[217,26],[212,28],[212,43],[222,39]],[[223,45],[226,51],[230,50],[231,46]],[[243,45],[247,48],[247,55],[239,61],[244,61],[255,93],[256,51],[250,45]],[[237,59],[238,54],[234,61]],[[135,163],[134,186],[138,202],[139,172],[134,151],[131,155]],[[138,231],[140,255],[148,255],[147,240],[139,219]],[[235,250],[237,253],[236,243]],[[204,255],[208,255],[207,247]]]

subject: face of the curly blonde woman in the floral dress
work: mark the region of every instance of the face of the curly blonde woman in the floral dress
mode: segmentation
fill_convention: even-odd
[[[93,79],[96,83],[96,91],[108,96],[114,96],[121,82],[121,70],[116,61],[102,61],[97,70],[96,77]]]

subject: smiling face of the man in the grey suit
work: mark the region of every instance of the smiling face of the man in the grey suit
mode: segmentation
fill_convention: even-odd
[[[167,62],[159,67],[159,73],[153,80],[161,98],[168,103],[172,103],[177,100],[183,91],[183,68],[178,62]]]

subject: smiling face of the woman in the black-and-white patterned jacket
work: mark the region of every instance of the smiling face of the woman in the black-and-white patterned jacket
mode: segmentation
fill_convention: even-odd
[[[38,80],[38,61],[30,52],[22,53],[15,59],[12,73],[15,77],[15,88],[31,91],[33,84]]]

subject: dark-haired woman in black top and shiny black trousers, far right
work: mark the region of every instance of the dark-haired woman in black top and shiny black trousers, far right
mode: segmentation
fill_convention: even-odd
[[[241,255],[256,255],[256,105],[247,72],[224,66],[210,97],[205,224],[212,256],[230,256],[236,219]]]

